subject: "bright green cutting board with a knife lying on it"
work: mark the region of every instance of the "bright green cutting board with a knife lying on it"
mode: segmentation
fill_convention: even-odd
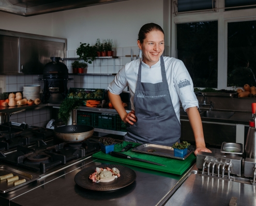
[[[114,151],[121,151],[123,147],[126,145],[130,144],[131,142],[123,142],[123,145],[117,144],[115,145],[115,150]],[[139,145],[138,143],[132,143],[133,146]],[[194,153],[191,153],[185,160],[179,160],[179,159],[173,159],[173,158],[167,158],[167,157],[161,157],[161,156],[156,156],[156,155],[149,155],[141,152],[134,152],[129,151],[122,152],[125,153],[126,155],[129,155],[134,158],[140,158],[143,160],[149,160],[152,162],[157,162],[166,166],[159,166],[155,164],[150,164],[146,162],[140,162],[136,160],[128,160],[128,159],[122,159],[122,158],[116,158],[111,156],[110,154],[106,154],[102,151],[99,151],[97,153],[93,154],[94,158],[100,158],[103,160],[109,160],[112,162],[119,162],[123,164],[129,164],[133,166],[138,166],[138,167],[143,167],[147,169],[154,169],[158,171],[164,171],[165,173],[172,173],[176,175],[182,175],[186,169],[192,165],[196,159]]]

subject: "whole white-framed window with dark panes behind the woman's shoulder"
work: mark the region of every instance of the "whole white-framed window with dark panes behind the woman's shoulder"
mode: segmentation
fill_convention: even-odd
[[[177,12],[176,3],[185,1],[189,0],[172,1],[170,55],[185,63],[194,86],[231,90],[235,86],[243,87],[245,82],[238,80],[238,76],[248,74],[252,80],[247,83],[253,85],[256,76],[256,8],[223,8],[254,5],[256,0],[218,0],[214,1],[214,10]],[[236,70],[242,59],[248,60],[249,65],[245,63],[245,70]],[[239,71],[243,75],[239,75]]]

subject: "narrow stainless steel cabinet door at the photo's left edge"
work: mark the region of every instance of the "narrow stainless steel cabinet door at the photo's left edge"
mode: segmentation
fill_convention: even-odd
[[[0,71],[1,73],[18,73],[19,38],[0,35]]]

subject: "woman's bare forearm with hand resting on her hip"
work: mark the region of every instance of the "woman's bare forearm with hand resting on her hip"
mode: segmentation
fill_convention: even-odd
[[[134,110],[127,114],[125,108],[122,105],[122,100],[119,95],[113,94],[110,91],[108,91],[108,95],[111,104],[113,105],[121,119],[124,121],[124,123],[129,123],[130,125],[133,125],[133,122],[137,122],[137,117],[135,116]]]

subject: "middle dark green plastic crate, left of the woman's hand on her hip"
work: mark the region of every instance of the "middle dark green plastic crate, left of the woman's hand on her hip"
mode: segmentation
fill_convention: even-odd
[[[116,114],[95,113],[94,127],[100,129],[116,130]]]

